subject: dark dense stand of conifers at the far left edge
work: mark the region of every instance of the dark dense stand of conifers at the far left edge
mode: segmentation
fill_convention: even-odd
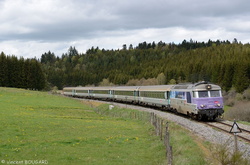
[[[42,90],[46,84],[41,63],[36,59],[18,59],[0,54],[0,86]]]

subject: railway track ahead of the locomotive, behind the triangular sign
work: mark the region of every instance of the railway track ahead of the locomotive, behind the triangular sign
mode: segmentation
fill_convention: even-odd
[[[216,121],[216,122],[204,122],[204,124],[212,128],[218,129],[220,131],[226,132],[230,135],[234,135],[233,133],[230,133],[233,122],[229,124],[227,121]],[[237,133],[237,137],[244,140],[247,143],[250,143],[250,131],[244,128],[240,128],[240,130],[242,132]]]

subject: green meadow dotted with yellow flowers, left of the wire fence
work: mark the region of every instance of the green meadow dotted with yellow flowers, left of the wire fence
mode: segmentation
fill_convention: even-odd
[[[149,124],[101,116],[80,101],[22,89],[0,88],[0,137],[0,164],[152,165],[166,159]]]

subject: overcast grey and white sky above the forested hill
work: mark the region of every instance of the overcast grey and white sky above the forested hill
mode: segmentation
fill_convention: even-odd
[[[0,52],[24,58],[61,56],[70,46],[250,42],[248,0],[0,0],[0,22]]]

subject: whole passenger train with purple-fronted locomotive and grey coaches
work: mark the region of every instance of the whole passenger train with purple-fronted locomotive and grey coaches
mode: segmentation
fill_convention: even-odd
[[[195,120],[215,120],[224,113],[221,87],[205,81],[154,86],[65,87],[63,94],[157,107]]]

